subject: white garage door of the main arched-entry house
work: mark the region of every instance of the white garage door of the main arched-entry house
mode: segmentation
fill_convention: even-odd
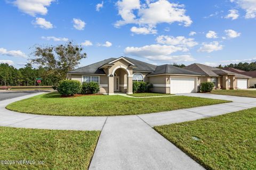
[[[171,94],[196,92],[195,78],[171,78]]]

